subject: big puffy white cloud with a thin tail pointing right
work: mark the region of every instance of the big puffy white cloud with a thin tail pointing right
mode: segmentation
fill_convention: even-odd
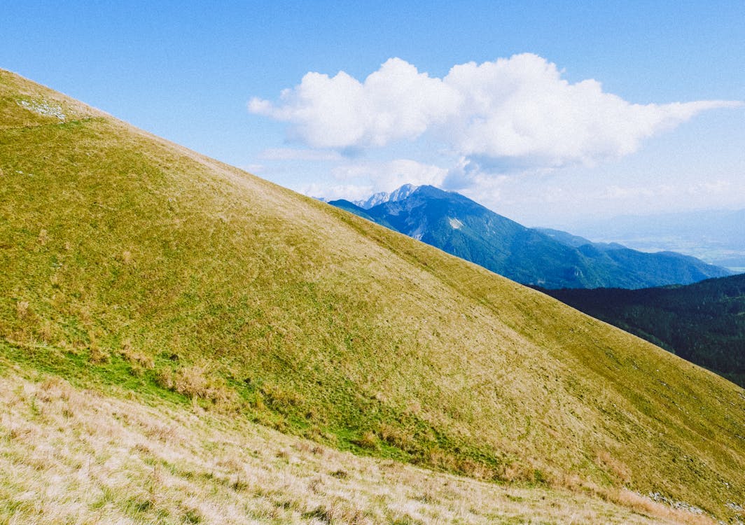
[[[422,136],[481,165],[592,165],[638,150],[650,136],[699,112],[738,101],[631,104],[596,80],[569,83],[535,54],[454,66],[430,77],[399,58],[359,81],[308,73],[279,101],[253,98],[251,112],[291,124],[311,147],[383,147]]]

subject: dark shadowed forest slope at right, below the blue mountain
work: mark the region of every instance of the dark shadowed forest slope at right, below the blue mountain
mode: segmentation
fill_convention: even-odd
[[[745,274],[644,290],[544,290],[745,386]]]

